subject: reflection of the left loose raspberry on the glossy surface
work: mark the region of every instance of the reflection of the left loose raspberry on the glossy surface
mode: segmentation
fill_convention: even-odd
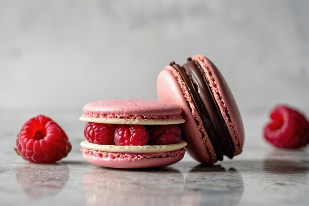
[[[66,165],[20,165],[16,178],[23,191],[31,199],[41,199],[57,195],[69,180],[69,168]]]

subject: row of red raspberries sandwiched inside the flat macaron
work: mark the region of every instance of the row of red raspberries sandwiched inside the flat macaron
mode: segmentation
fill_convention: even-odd
[[[166,145],[181,141],[175,125],[137,125],[87,123],[84,136],[89,143],[101,145]]]

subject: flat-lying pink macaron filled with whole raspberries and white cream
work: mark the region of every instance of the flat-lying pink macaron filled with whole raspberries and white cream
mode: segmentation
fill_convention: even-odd
[[[187,143],[177,126],[181,108],[150,99],[114,99],[86,104],[79,120],[88,122],[80,143],[83,157],[114,168],[166,166],[180,161]]]

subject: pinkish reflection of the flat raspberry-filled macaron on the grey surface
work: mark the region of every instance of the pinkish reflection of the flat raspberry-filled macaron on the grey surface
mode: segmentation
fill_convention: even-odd
[[[116,170],[95,167],[83,174],[87,206],[179,206],[185,179],[172,167]]]

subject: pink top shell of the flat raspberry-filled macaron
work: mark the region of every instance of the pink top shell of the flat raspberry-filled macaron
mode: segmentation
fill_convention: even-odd
[[[84,118],[178,120],[181,108],[153,99],[110,99],[91,102],[83,107]]]

